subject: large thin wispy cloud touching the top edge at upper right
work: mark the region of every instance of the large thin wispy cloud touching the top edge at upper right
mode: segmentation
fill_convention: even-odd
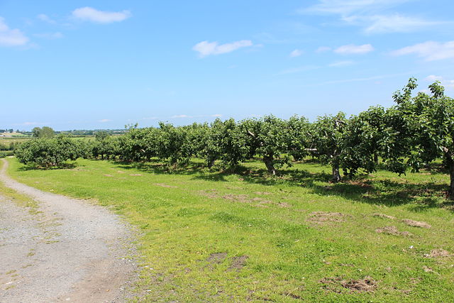
[[[341,21],[352,26],[360,26],[367,34],[406,33],[447,23],[387,12],[409,1],[412,0],[319,0],[318,4],[299,9],[298,12],[338,15]]]

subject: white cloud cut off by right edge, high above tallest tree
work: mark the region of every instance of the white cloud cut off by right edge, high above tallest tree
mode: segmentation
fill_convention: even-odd
[[[446,43],[427,41],[394,50],[391,54],[396,56],[416,54],[426,61],[454,59],[454,41]]]

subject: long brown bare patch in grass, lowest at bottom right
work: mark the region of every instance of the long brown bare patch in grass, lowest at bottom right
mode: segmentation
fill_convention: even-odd
[[[324,277],[319,282],[323,284],[323,289],[338,293],[341,293],[343,288],[353,292],[373,292],[377,289],[377,282],[368,276],[360,280],[348,281],[341,277]]]

